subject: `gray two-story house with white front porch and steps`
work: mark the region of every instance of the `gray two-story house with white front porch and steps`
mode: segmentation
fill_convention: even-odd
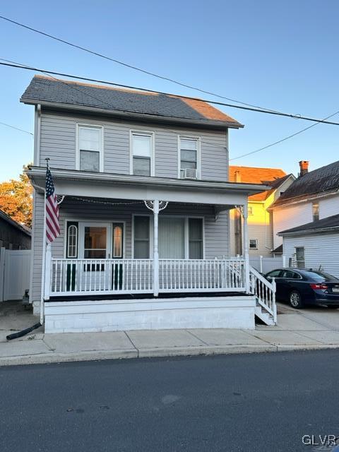
[[[200,100],[44,76],[21,102],[35,105],[30,301],[47,333],[275,323],[246,235],[247,198],[268,187],[228,182],[239,122]],[[46,159],[61,227],[49,246]],[[231,258],[235,206],[244,249]]]

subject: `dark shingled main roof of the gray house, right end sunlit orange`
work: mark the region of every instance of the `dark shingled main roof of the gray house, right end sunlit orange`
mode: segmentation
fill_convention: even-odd
[[[137,114],[190,121],[210,126],[242,127],[238,121],[204,101],[148,91],[112,88],[78,81],[34,76],[20,102],[57,107],[87,107],[110,113]]]

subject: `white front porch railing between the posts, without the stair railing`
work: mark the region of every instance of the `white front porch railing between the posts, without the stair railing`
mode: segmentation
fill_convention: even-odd
[[[160,259],[160,292],[245,292],[245,262]],[[47,263],[45,299],[63,295],[153,292],[152,259],[57,259]]]

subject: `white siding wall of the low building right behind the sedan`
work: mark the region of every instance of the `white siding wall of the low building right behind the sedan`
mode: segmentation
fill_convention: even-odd
[[[305,266],[319,268],[339,278],[339,234],[314,234],[284,237],[284,254],[295,254],[296,246],[304,246]]]

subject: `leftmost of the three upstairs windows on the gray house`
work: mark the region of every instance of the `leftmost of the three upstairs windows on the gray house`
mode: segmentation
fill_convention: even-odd
[[[103,171],[102,127],[78,125],[78,169]]]

